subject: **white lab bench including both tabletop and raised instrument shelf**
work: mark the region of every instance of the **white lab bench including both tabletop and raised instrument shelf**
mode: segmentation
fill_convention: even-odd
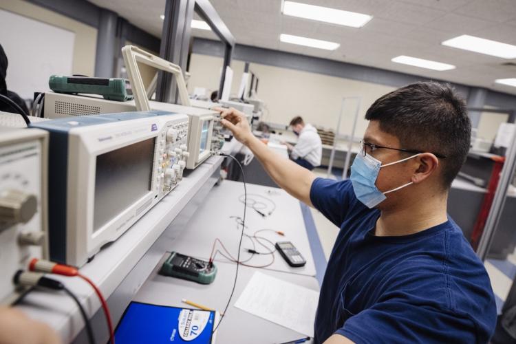
[[[103,249],[80,272],[97,283],[105,295],[114,325],[131,300],[160,305],[185,306],[181,299],[223,310],[233,286],[236,265],[218,256],[218,272],[215,282],[208,286],[162,277],[157,275],[166,252],[176,250],[186,255],[207,259],[213,239],[219,237],[226,248],[237,254],[239,230],[235,219],[242,216],[244,204],[238,198],[244,194],[243,184],[224,180],[215,186],[219,177],[222,157],[212,157],[182,180],[171,194],[166,196],[122,237]],[[274,200],[276,210],[268,217],[261,217],[252,208],[247,208],[246,233],[252,234],[261,228],[283,231],[286,236],[263,232],[260,235],[271,241],[292,241],[305,256],[303,268],[291,268],[275,253],[275,262],[268,269],[240,266],[237,288],[219,327],[217,343],[277,343],[301,338],[303,335],[270,323],[257,316],[233,307],[254,271],[319,290],[314,278],[315,266],[308,236],[306,235],[301,207],[297,200],[285,191],[248,184],[249,194],[264,194]],[[252,196],[250,196],[252,197]],[[250,243],[244,239],[242,248]],[[243,253],[242,258],[248,253]],[[256,256],[250,264],[261,264],[270,257]],[[73,290],[90,316],[98,343],[108,338],[105,316],[100,309],[94,291],[77,278],[55,277]],[[65,294],[34,290],[17,307],[32,319],[48,323],[63,338],[63,342],[86,343],[83,320],[75,303]]]

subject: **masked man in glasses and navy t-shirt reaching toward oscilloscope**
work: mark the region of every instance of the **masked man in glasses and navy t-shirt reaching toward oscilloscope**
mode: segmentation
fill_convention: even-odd
[[[489,341],[491,283],[447,216],[471,137],[464,100],[449,85],[415,83],[376,100],[351,178],[341,182],[281,159],[252,136],[243,114],[219,110],[279,186],[341,228],[321,286],[316,343]]]

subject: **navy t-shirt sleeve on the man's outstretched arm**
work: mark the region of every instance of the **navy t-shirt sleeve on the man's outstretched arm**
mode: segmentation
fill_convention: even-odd
[[[340,227],[350,204],[356,200],[350,180],[316,178],[310,188],[310,201],[327,219]]]

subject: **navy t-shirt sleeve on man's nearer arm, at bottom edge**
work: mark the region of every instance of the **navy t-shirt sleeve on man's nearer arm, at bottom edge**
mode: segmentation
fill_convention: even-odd
[[[475,324],[467,316],[400,301],[376,303],[347,319],[336,334],[357,344],[478,343]]]

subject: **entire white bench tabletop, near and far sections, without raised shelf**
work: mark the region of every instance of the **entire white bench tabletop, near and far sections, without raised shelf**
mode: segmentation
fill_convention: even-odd
[[[247,192],[249,197],[258,194],[274,200],[276,210],[269,217],[261,217],[248,207],[246,214],[248,228],[244,233],[252,235],[255,230],[262,228],[281,230],[285,233],[284,237],[272,232],[262,232],[259,235],[267,237],[272,242],[292,241],[304,255],[307,264],[302,268],[291,268],[279,255],[279,252],[275,252],[275,261],[268,268],[240,266],[235,294],[226,316],[217,330],[217,343],[281,343],[301,338],[304,336],[303,334],[233,307],[256,271],[298,286],[319,290],[319,283],[314,278],[314,259],[299,201],[288,195],[286,191],[267,186],[247,184]],[[239,197],[243,194],[244,184],[241,182],[224,180],[219,186],[214,186],[202,206],[197,209],[197,215],[191,219],[181,235],[171,242],[169,250],[208,260],[213,241],[215,238],[219,238],[233,257],[236,257],[241,225],[239,226],[233,217],[242,216],[244,204],[239,202]],[[220,248],[220,246],[217,247]],[[242,261],[249,257],[250,254],[246,252],[246,248],[250,247],[252,246],[250,246],[249,239],[244,237],[240,257]],[[260,246],[257,246],[257,250],[265,251]],[[140,288],[134,301],[189,308],[189,305],[181,302],[181,299],[187,299],[220,312],[224,310],[233,287],[236,264],[230,263],[222,256],[217,256],[215,281],[209,285],[201,285],[158,275],[158,270],[166,257],[168,254],[164,255],[160,263],[155,266],[152,275]],[[269,261],[271,261],[270,255],[255,255],[247,264],[261,266],[268,264]]]

